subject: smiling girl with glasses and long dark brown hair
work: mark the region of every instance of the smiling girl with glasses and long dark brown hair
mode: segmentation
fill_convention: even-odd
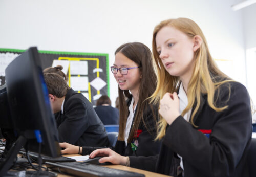
[[[150,49],[139,42],[125,43],[115,52],[111,71],[118,83],[120,120],[118,140],[112,149],[122,156],[152,156],[159,153],[160,142],[154,141],[158,105],[147,99],[156,89],[152,62]],[[78,146],[67,143],[60,143],[60,147],[66,148],[62,153],[79,152]],[[80,152],[90,154],[95,149],[83,147]]]

